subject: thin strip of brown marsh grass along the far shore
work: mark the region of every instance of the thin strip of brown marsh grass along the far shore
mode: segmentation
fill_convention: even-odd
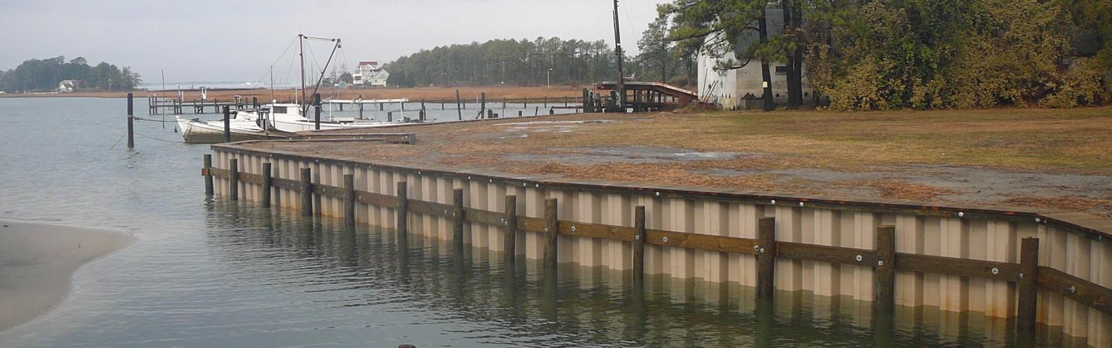
[[[320,90],[320,98],[332,99],[391,99],[409,98],[409,100],[455,100],[456,90],[464,100],[475,99],[480,92],[486,92],[487,99],[502,98],[556,98],[577,97],[582,95],[583,87],[576,86],[553,86],[553,87],[519,87],[519,86],[469,86],[458,88],[430,87],[430,88],[366,88],[366,89],[326,89]],[[311,92],[311,88],[308,89]],[[135,91],[136,97],[146,98],[148,96],[177,98],[177,91]],[[288,101],[294,99],[292,89],[275,90],[275,99]],[[92,97],[92,98],[126,98],[127,92],[72,92],[72,93],[26,93],[26,95],[0,95],[0,98],[51,98],[51,97]],[[250,99],[258,97],[260,101],[270,100],[269,89],[221,89],[208,91],[209,100],[232,100],[235,96]],[[298,97],[300,99],[300,97]],[[186,100],[200,99],[199,91],[187,91]]]

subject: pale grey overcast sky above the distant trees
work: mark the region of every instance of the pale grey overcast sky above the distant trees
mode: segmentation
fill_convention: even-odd
[[[627,51],[636,50],[662,1],[620,1]],[[256,81],[298,32],[342,39],[340,58],[354,68],[359,60],[387,62],[425,48],[499,38],[613,43],[612,6],[610,0],[3,0],[0,69],[64,56],[129,66],[148,83],[160,81],[160,69],[168,82]],[[321,63],[329,49],[312,46]],[[276,63],[276,79],[288,74],[291,53]],[[306,59],[312,57],[307,52]]]

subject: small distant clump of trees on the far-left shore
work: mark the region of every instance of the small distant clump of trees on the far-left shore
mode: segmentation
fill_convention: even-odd
[[[100,62],[89,66],[81,57],[66,61],[66,57],[48,59],[31,59],[8,71],[0,73],[0,90],[6,92],[52,91],[58,89],[62,80],[75,80],[77,89],[129,91],[133,90],[142,78],[132,72],[130,67],[119,68],[115,64]]]

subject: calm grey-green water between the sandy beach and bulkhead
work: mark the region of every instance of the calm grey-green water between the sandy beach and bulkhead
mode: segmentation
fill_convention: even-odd
[[[546,280],[488,261],[498,256],[458,256],[419,238],[398,248],[389,232],[207,200],[208,146],[137,137],[128,150],[123,108],[122,99],[0,99],[0,218],[139,239],[81,268],[64,302],[0,334],[0,347],[1010,342],[1004,325],[975,316],[910,312],[885,328],[867,304],[802,294],[758,306],[751,289],[662,279],[642,292],[628,275],[574,266]],[[160,123],[136,127],[180,139]]]

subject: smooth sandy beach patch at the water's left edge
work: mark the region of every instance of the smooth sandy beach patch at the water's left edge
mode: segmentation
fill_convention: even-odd
[[[57,306],[81,265],[133,241],[118,231],[0,220],[0,331]]]

